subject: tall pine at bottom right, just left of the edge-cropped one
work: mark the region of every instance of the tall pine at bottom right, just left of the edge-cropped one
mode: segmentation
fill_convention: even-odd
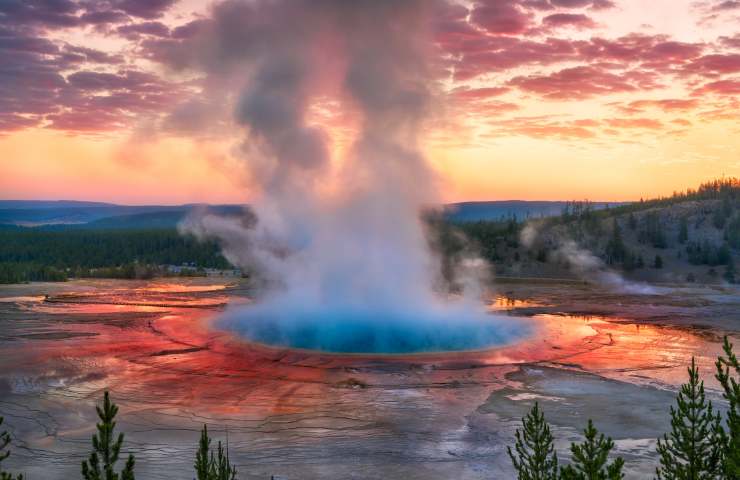
[[[658,480],[709,480],[720,471],[724,435],[721,415],[704,396],[704,382],[691,359],[689,382],[671,406],[671,433],[658,440]]]

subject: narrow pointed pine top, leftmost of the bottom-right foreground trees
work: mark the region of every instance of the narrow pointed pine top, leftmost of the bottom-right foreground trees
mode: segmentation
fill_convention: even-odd
[[[545,416],[535,403],[516,431],[516,455],[507,447],[518,480],[557,480],[558,458]]]

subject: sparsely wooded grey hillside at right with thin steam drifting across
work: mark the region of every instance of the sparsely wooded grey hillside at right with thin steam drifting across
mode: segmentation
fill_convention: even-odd
[[[739,179],[609,209],[575,202],[561,215],[518,220],[457,227],[497,275],[572,277],[613,287],[623,278],[740,283]],[[448,237],[454,247],[456,237]]]

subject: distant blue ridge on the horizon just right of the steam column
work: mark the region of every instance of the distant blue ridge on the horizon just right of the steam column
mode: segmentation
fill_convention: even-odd
[[[554,217],[563,213],[569,202],[502,200],[491,202],[462,202],[446,206],[447,218],[453,222],[477,222],[480,220],[501,220],[516,217],[529,218]],[[625,202],[595,202],[592,207],[600,210],[610,206],[624,205]]]

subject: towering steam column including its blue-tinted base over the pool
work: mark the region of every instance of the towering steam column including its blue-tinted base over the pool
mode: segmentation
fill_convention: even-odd
[[[263,192],[256,224],[200,215],[183,228],[220,238],[229,260],[263,279],[265,298],[232,312],[234,328],[338,351],[480,348],[517,330],[485,314],[475,295],[442,301],[433,289],[440,264],[420,212],[439,197],[418,147],[436,88],[433,7],[277,0],[214,10],[196,48],[207,50],[200,66],[217,78],[212,83],[244,79],[235,118]],[[308,121],[312,105],[329,95],[358,125],[338,164],[329,132]],[[325,188],[328,179],[335,188]]]

